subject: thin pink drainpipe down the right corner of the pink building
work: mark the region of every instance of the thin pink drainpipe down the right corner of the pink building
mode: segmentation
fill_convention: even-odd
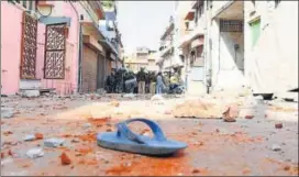
[[[78,87],[77,87],[77,92],[80,91],[80,86],[81,86],[81,58],[82,58],[82,44],[81,44],[81,38],[82,38],[82,32],[81,32],[81,24],[80,24],[80,16],[79,13],[77,11],[77,9],[74,7],[73,2],[69,1],[69,4],[71,5],[71,8],[74,9],[74,11],[76,12],[77,19],[78,19],[78,49],[79,49],[79,56],[78,56]]]

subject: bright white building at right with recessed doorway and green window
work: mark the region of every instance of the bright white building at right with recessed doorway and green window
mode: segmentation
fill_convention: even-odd
[[[211,90],[298,88],[297,1],[213,1],[206,8]]]

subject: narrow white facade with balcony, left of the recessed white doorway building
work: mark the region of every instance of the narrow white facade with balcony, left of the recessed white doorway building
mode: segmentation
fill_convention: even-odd
[[[189,95],[206,92],[203,7],[203,1],[179,1],[176,10],[179,35],[177,48],[184,62],[181,78]]]

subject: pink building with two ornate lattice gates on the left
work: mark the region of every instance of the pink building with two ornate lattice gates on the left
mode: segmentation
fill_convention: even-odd
[[[81,24],[97,24],[103,16],[97,1],[1,1],[1,93],[77,92],[82,36],[95,32]]]

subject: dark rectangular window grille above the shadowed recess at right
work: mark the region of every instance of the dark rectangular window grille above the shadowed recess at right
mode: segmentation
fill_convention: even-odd
[[[220,32],[243,32],[243,21],[221,20]]]

